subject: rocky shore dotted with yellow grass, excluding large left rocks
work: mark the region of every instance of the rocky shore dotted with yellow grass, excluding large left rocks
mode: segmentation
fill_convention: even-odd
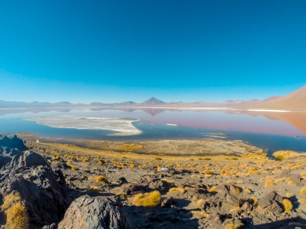
[[[269,159],[244,142],[215,139],[47,138],[38,152],[30,135],[21,137],[62,171],[73,199],[116,195],[135,228],[306,228],[303,153]]]

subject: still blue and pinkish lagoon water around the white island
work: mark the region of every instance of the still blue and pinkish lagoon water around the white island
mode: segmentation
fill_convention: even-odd
[[[227,112],[227,113],[226,113]],[[306,152],[306,135],[303,129],[306,113],[293,118],[288,114],[241,113],[211,110],[167,111],[167,110],[67,110],[40,112],[7,112],[0,115],[0,133],[31,132],[40,137],[95,139],[95,140],[157,140],[157,139],[200,139],[214,137],[224,140],[243,140],[267,149]],[[129,118],[141,120],[133,125],[142,131],[139,135],[112,136],[111,130],[89,130],[55,128],[25,119],[45,116],[84,116],[105,118]],[[299,118],[296,118],[299,117]],[[298,120],[299,119],[299,120]],[[167,125],[175,124],[175,125]]]

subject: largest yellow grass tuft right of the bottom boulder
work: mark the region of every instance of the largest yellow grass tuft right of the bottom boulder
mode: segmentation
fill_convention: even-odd
[[[149,193],[135,195],[132,202],[136,206],[153,207],[159,205],[161,197],[161,193],[155,190]]]

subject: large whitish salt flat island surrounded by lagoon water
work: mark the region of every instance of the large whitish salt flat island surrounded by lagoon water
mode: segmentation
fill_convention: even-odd
[[[88,130],[111,130],[116,131],[114,135],[135,135],[141,131],[133,122],[139,121],[124,118],[86,117],[86,116],[48,116],[26,119],[35,121],[37,124],[55,128],[74,128]]]

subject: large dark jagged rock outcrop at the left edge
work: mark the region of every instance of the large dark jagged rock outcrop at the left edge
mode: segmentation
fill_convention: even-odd
[[[30,228],[58,223],[71,198],[62,173],[54,173],[45,159],[29,151],[16,135],[0,135],[0,205],[12,191],[20,193]]]

